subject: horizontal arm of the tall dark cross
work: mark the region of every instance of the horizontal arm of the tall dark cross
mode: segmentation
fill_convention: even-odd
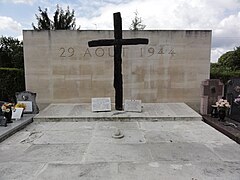
[[[137,45],[148,44],[148,39],[134,38],[134,39],[99,39],[88,42],[89,47],[97,46],[113,46],[113,45]]]

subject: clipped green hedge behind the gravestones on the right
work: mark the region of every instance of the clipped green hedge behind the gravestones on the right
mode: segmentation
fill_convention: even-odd
[[[240,78],[240,71],[219,71],[212,69],[210,73],[210,79],[220,79],[224,84],[226,84],[228,80],[234,77]]]

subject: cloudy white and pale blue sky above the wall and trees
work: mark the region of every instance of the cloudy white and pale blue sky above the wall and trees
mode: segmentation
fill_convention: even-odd
[[[38,6],[53,19],[57,4],[75,10],[82,30],[112,30],[114,12],[127,30],[136,10],[145,30],[212,30],[211,62],[240,46],[240,0],[0,0],[0,36],[21,39],[23,29],[37,24]]]

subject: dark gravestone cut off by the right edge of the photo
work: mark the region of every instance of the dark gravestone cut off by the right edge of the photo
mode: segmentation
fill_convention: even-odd
[[[240,96],[240,78],[232,78],[227,83],[226,97],[231,105],[229,117],[240,122],[240,104],[234,102]]]

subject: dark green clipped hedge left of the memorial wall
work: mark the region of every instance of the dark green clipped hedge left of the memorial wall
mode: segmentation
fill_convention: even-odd
[[[15,92],[24,90],[24,70],[0,68],[0,101],[15,102]]]

